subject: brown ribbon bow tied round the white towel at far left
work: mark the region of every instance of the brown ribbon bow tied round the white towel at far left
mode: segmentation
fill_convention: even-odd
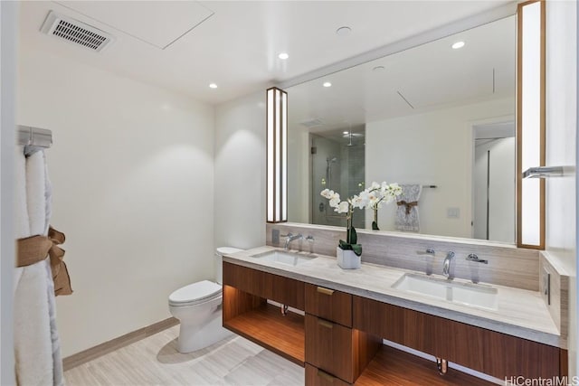
[[[50,256],[54,295],[57,297],[72,293],[69,271],[62,261],[64,250],[58,247],[64,242],[64,239],[64,233],[50,227],[48,236],[37,235],[16,240],[16,267],[30,266],[46,259],[46,255]]]

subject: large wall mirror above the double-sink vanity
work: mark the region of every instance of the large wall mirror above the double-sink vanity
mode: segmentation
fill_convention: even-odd
[[[286,88],[288,220],[343,226],[319,193],[386,181],[421,186],[420,233],[515,243],[516,58],[511,15]]]

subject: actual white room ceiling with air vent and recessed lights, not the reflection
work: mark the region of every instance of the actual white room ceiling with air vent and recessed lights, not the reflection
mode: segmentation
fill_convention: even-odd
[[[20,3],[21,50],[43,50],[212,104],[509,1]],[[52,10],[113,34],[103,52],[39,32]],[[352,33],[338,36],[347,25]],[[281,61],[280,52],[289,59]],[[209,89],[214,82],[218,89]]]

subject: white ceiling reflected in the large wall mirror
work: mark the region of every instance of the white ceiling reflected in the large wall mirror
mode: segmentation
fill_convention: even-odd
[[[454,42],[465,45],[453,50]],[[311,132],[341,133],[350,126],[432,109],[514,101],[516,53],[513,15],[368,61],[286,89],[289,127],[319,121]],[[384,70],[374,71],[376,67]],[[324,88],[326,81],[332,86]]]

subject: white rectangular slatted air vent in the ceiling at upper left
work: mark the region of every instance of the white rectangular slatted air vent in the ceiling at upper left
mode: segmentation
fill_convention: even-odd
[[[101,52],[113,41],[109,33],[52,11],[46,16],[40,31],[96,52]]]

